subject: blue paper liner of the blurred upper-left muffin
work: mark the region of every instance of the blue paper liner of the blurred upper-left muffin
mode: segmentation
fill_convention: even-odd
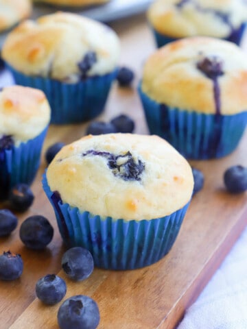
[[[8,66],[16,84],[43,90],[51,106],[51,123],[80,123],[103,112],[117,69],[102,76],[67,84],[45,77],[27,76]]]

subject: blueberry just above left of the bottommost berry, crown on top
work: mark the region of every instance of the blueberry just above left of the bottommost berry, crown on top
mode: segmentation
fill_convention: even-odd
[[[54,305],[66,295],[67,285],[65,281],[56,274],[47,274],[36,283],[36,295],[41,302]]]

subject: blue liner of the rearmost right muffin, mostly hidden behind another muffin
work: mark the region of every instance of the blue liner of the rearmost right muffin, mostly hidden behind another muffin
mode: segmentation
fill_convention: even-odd
[[[233,32],[230,34],[230,36],[226,38],[222,38],[223,40],[234,42],[236,45],[240,45],[242,41],[242,37],[244,36],[244,30],[246,28],[246,23],[242,23],[242,25],[239,26],[238,29],[234,29]],[[169,42],[174,42],[176,40],[179,40],[181,38],[172,38],[169,36],[165,36],[164,34],[161,34],[160,32],[156,31],[156,29],[152,28],[152,33],[154,35],[154,40],[156,41],[156,46],[158,48],[161,48]]]

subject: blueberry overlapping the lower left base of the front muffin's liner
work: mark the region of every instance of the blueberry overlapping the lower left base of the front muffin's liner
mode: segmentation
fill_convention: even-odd
[[[89,250],[82,247],[72,247],[62,256],[62,269],[75,281],[89,278],[93,272],[93,256]]]

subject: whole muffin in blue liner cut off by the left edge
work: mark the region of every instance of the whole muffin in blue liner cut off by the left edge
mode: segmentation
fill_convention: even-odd
[[[23,86],[1,89],[0,199],[7,199],[15,184],[34,180],[50,115],[41,90]]]

